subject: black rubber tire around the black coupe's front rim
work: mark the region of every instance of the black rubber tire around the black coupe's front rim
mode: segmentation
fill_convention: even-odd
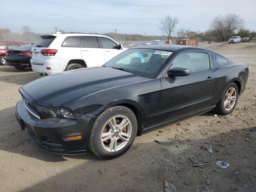
[[[123,148],[121,148],[116,152],[108,152],[102,147],[102,144],[100,141],[100,135],[101,135],[102,128],[106,124],[106,122],[108,122],[108,120],[110,120],[111,118],[117,115],[126,116],[130,120],[132,124],[132,133],[129,141],[126,143],[126,145]],[[132,143],[134,142],[134,139],[137,135],[137,130],[138,130],[138,123],[137,123],[136,116],[134,115],[132,110],[124,106],[114,106],[106,109],[104,112],[102,112],[102,114],[98,116],[98,118],[94,122],[94,125],[92,126],[87,144],[90,150],[96,156],[102,159],[116,158],[124,154],[132,146]]]

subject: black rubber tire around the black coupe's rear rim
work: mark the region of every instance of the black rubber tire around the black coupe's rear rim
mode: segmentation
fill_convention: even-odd
[[[235,88],[236,90],[236,100],[235,100],[235,103],[234,103],[234,106],[230,109],[230,110],[226,110],[225,107],[224,107],[224,99],[225,99],[225,95],[226,95],[226,92],[231,88]],[[227,114],[230,114],[234,108],[236,107],[236,103],[237,103],[237,100],[238,100],[238,87],[237,85],[232,82],[228,85],[228,87],[224,90],[224,92],[222,93],[221,95],[221,98],[220,98],[220,101],[218,102],[218,104],[216,105],[216,109],[215,109],[215,112],[220,114],[220,115],[227,115]]]

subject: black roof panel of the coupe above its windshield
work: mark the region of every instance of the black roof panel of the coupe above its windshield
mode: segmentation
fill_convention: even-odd
[[[158,44],[158,45],[144,45],[144,46],[138,46],[132,49],[158,49],[158,50],[165,50],[165,51],[172,51],[175,52],[180,49],[188,49],[190,50],[204,50],[206,51],[207,49],[204,48],[198,48],[198,47],[193,47],[193,46],[186,46],[186,45],[168,45],[168,44]]]

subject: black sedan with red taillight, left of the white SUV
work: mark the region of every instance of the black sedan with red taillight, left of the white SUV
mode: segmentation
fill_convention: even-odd
[[[31,67],[31,51],[33,44],[22,45],[13,50],[6,52],[6,65],[14,66],[18,70],[24,70],[26,67]]]

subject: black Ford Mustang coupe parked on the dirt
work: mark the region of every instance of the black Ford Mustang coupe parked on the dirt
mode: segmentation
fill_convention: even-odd
[[[126,152],[156,126],[216,110],[226,115],[244,92],[248,67],[211,50],[148,45],[101,67],[40,78],[19,89],[16,117],[40,148],[100,158]]]

